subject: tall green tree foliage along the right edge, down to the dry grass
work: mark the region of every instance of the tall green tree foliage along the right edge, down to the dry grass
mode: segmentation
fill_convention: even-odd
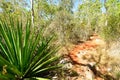
[[[105,6],[107,12],[102,17],[101,31],[107,41],[116,41],[120,37],[120,2],[109,0]]]

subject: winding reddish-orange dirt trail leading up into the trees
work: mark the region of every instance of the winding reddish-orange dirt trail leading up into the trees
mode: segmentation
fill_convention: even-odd
[[[105,41],[97,34],[93,34],[89,40],[69,50],[71,70],[78,74],[70,80],[115,80],[109,73],[108,64],[102,58],[105,46]]]

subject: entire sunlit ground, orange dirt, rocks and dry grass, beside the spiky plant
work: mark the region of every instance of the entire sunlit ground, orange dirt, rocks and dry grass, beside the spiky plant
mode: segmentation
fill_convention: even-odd
[[[115,62],[107,54],[105,46],[91,47],[93,46],[91,42],[90,46],[88,43],[70,44],[69,47],[63,47],[59,51],[63,54],[61,63],[65,65],[62,72],[60,71],[61,74],[58,73],[58,78],[53,80],[120,80],[120,78],[115,78],[113,73]],[[84,49],[81,48],[83,44],[87,44]]]

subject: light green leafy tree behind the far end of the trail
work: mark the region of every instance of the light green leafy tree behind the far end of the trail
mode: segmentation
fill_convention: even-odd
[[[86,40],[90,34],[98,31],[98,19],[101,14],[99,1],[83,1],[78,5],[73,27],[73,38],[75,40]]]

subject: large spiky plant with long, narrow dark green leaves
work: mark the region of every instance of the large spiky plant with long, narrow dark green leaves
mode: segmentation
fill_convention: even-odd
[[[25,29],[23,29],[25,28]],[[43,30],[35,33],[31,22],[10,19],[0,20],[0,79],[24,80],[40,78],[44,73],[61,67],[52,65],[59,59],[52,48],[52,37],[44,37]]]

